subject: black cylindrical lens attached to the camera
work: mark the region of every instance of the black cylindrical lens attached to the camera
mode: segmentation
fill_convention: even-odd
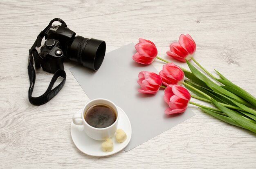
[[[92,70],[101,67],[106,52],[103,40],[76,36],[67,48],[67,58]]]

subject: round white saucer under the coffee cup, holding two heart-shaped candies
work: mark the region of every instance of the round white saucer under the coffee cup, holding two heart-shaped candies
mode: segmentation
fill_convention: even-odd
[[[119,143],[119,142],[117,142],[117,139],[115,138],[115,136],[116,136],[116,134],[115,134],[114,136],[111,137],[113,144],[114,144],[114,150],[111,152],[104,152],[101,149],[101,144],[104,141],[97,141],[97,140],[90,138],[83,131],[83,126],[74,125],[74,123],[71,122],[71,129],[70,129],[71,137],[72,137],[74,144],[80,151],[82,151],[83,153],[90,155],[90,156],[97,156],[97,157],[110,156],[112,154],[115,154],[115,153],[121,151],[122,149],[124,149],[124,147],[126,147],[128,145],[128,143],[130,142],[131,136],[132,136],[132,127],[130,124],[130,120],[129,120],[128,116],[126,115],[126,113],[124,112],[124,110],[122,110],[120,107],[117,107],[117,109],[118,109],[119,115],[120,115],[117,129],[124,130],[126,132],[127,139],[123,143]],[[82,111],[82,109],[79,111]]]

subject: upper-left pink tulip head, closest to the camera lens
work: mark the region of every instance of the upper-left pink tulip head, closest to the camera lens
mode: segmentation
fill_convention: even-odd
[[[141,64],[150,64],[157,57],[157,47],[150,40],[139,38],[139,43],[135,44],[137,53],[132,59]]]

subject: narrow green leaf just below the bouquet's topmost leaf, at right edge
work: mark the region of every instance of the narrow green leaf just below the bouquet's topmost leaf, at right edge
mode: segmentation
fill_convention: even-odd
[[[225,80],[222,79],[218,79],[219,82],[221,82],[224,85],[228,85],[228,82],[224,82]],[[247,100],[249,103],[251,103],[252,105],[254,105],[254,107],[256,107],[256,99],[252,98],[251,96],[247,95],[247,93],[243,93],[243,91],[239,91],[237,89],[235,89],[234,87],[230,87],[230,86],[221,86],[222,88],[235,93],[237,96],[240,96],[241,98]]]

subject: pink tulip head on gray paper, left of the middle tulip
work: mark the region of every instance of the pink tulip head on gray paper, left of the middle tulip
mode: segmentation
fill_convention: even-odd
[[[162,85],[162,78],[154,72],[141,71],[138,83],[141,86],[141,89],[138,89],[140,93],[155,94]]]

